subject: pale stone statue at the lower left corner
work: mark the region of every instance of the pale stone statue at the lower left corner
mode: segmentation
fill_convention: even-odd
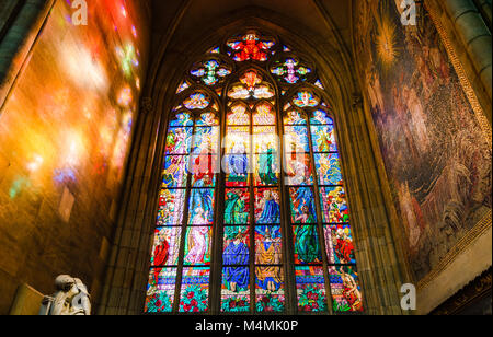
[[[45,297],[39,315],[73,316],[91,315],[88,288],[80,279],[68,275],[60,275],[55,280],[57,292],[53,297]]]

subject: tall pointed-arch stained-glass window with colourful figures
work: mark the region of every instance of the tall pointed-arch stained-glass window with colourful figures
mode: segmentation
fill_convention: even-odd
[[[313,65],[246,32],[170,113],[145,311],[363,311],[335,124]]]

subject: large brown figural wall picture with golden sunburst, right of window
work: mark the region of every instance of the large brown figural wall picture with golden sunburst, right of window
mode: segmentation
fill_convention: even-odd
[[[491,148],[428,13],[362,0],[355,50],[416,280],[491,210]]]

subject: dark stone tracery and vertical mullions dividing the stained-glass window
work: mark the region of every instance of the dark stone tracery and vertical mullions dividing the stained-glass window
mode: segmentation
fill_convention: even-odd
[[[301,54],[295,54],[291,51],[290,48],[283,46],[282,44],[279,44],[279,40],[277,38],[272,38],[272,40],[275,42],[274,47],[272,48],[273,54],[270,55],[268,60],[266,61],[256,61],[256,60],[248,60],[248,61],[233,61],[232,59],[230,59],[227,55],[229,51],[231,51],[231,49],[227,46],[227,42],[230,40],[230,38],[225,39],[225,42],[220,45],[219,48],[219,53],[207,53],[205,55],[202,56],[202,58],[199,58],[199,60],[192,65],[191,67],[187,68],[186,74],[184,75],[184,80],[183,83],[187,83],[187,86],[185,90],[181,91],[180,93],[177,93],[177,100],[176,103],[182,102],[183,98],[186,98],[187,95],[190,96],[191,93],[193,92],[200,92],[200,93],[205,93],[207,94],[213,102],[216,103],[216,105],[218,106],[218,111],[217,111],[217,115],[219,118],[219,124],[220,124],[220,138],[222,139],[226,135],[226,116],[227,116],[227,112],[230,105],[234,105],[238,102],[243,102],[244,100],[230,100],[228,98],[228,91],[231,88],[231,85],[233,85],[236,82],[239,81],[239,78],[241,77],[241,74],[246,71],[246,70],[251,70],[254,69],[256,71],[259,71],[260,73],[262,73],[264,80],[267,83],[272,84],[272,89],[275,92],[274,98],[272,100],[259,100],[255,102],[255,105],[261,104],[262,102],[267,102],[267,101],[274,101],[274,112],[276,114],[276,132],[277,135],[284,135],[284,117],[286,114],[286,109],[284,108],[286,104],[290,104],[291,107],[295,106],[294,105],[294,95],[297,92],[300,91],[309,91],[311,92],[314,96],[319,97],[320,102],[331,102],[330,97],[326,95],[326,93],[321,90],[320,85],[321,85],[321,81],[317,78],[317,69],[314,68],[312,62],[309,62],[309,58],[307,58],[306,56],[302,56]],[[210,50],[218,50],[217,48],[211,48]],[[296,58],[297,60],[302,60],[301,65],[307,66],[309,65],[311,72],[306,77],[305,81],[298,82],[296,84],[290,84],[287,82],[283,82],[282,80],[278,80],[277,78],[274,77],[274,74],[272,73],[272,68],[275,65],[276,61],[279,60],[279,58]],[[193,75],[191,75],[190,69],[192,68],[196,68],[197,63],[203,62],[203,61],[207,61],[207,60],[218,60],[219,62],[222,62],[223,65],[226,65],[226,67],[228,69],[230,69],[231,74],[229,74],[228,77],[226,77],[222,81],[218,81],[216,84],[214,85],[206,85],[203,82],[198,82],[196,78],[194,78]],[[229,102],[231,102],[231,104],[229,104]],[[270,103],[271,104],[271,103]],[[209,105],[211,106],[213,103]],[[330,103],[329,105],[324,106],[323,108],[330,114],[331,118],[334,120],[334,126],[336,125],[335,123],[335,116],[332,115],[330,113],[330,106],[332,106]],[[250,129],[253,129],[253,111],[255,107],[252,108],[251,113],[251,124],[250,124]],[[320,106],[318,107],[313,107],[313,108],[298,108],[299,111],[302,111],[303,113],[309,113],[312,111],[317,111],[317,108],[320,108]],[[183,107],[181,107],[180,109],[177,109],[177,112],[182,112]],[[197,115],[199,111],[193,111],[194,115]],[[199,114],[198,114],[199,115]],[[310,158],[311,158],[311,162],[312,162],[312,166],[314,168],[314,155],[313,155],[313,150],[312,150],[312,142],[311,142],[311,132],[310,132],[310,118],[308,117],[309,115],[307,115],[307,128],[308,128],[308,137],[309,137],[309,143],[310,143]],[[196,118],[196,117],[195,117]],[[172,118],[170,118],[171,120]],[[194,127],[195,128],[195,127]],[[336,130],[336,127],[334,127],[334,129]],[[253,132],[252,132],[253,133]],[[282,154],[284,154],[283,156],[286,155],[285,149],[284,149],[284,141],[282,136],[280,137],[280,143],[278,144],[278,155],[280,156]],[[337,141],[337,132],[335,132],[335,141],[337,147],[341,144]],[[251,151],[253,151],[253,148],[251,148]],[[220,150],[220,160],[223,158],[225,155],[225,151],[223,148],[221,148]],[[251,155],[252,156],[252,155]],[[340,164],[341,164],[341,171],[342,174],[344,176],[343,173],[343,163],[341,163],[341,159],[340,159]],[[284,159],[279,158],[279,166],[282,166],[280,170],[280,179],[279,179],[279,184],[278,184],[278,188],[282,191],[282,202],[280,202],[280,208],[282,208],[282,220],[280,220],[280,225],[282,225],[282,232],[283,232],[283,266],[285,268],[284,270],[284,275],[285,275],[285,293],[286,297],[289,297],[289,299],[286,299],[289,303],[290,309],[293,310],[294,306],[296,306],[296,303],[294,303],[294,299],[296,299],[296,284],[293,280],[293,271],[294,270],[288,270],[294,269],[295,264],[293,263],[293,247],[290,247],[290,245],[293,245],[293,241],[291,241],[291,223],[289,222],[290,219],[290,214],[289,214],[289,200],[288,199],[288,194],[287,194],[287,186],[284,184]],[[217,259],[217,264],[221,265],[221,255],[222,255],[222,249],[220,249],[220,246],[222,245],[222,239],[223,239],[223,219],[221,219],[221,217],[219,217],[220,210],[223,210],[223,198],[219,197],[222,196],[225,190],[227,189],[227,187],[225,186],[225,177],[223,177],[223,173],[222,170],[221,172],[219,172],[217,174],[217,183],[216,183],[216,198],[215,198],[215,221],[214,221],[214,226],[213,226],[213,231],[214,231],[214,236],[213,236],[213,259],[216,258]],[[190,178],[188,178],[190,179]],[[316,176],[316,173],[313,172],[313,189],[318,190],[318,178]],[[252,187],[253,184],[250,184],[250,190],[254,189],[255,187]],[[190,187],[187,187],[187,189],[190,189]],[[284,195],[284,196],[283,196]],[[329,263],[328,263],[328,258],[326,258],[326,254],[325,254],[325,247],[324,247],[324,242],[322,240],[323,236],[323,221],[321,220],[321,206],[320,206],[320,201],[319,201],[319,195],[317,193],[314,193],[314,198],[316,198],[316,208],[317,208],[317,226],[319,230],[319,241],[321,243],[321,247],[322,247],[322,257],[323,257],[323,262],[322,262],[322,267],[324,270],[324,281],[325,281],[325,289],[326,289],[326,297],[328,300],[330,298],[330,292],[331,292],[331,283],[330,283],[330,275],[328,271],[328,267],[329,267]],[[185,212],[187,211],[187,204],[188,204],[188,194],[185,200]],[[348,202],[348,200],[346,200],[346,202]],[[254,197],[251,194],[250,196],[250,212],[253,212],[253,207],[252,205],[254,204]],[[184,216],[184,218],[186,218],[186,216]],[[222,217],[223,218],[223,217]],[[253,217],[254,218],[254,217]],[[183,220],[184,223],[186,223],[186,220]],[[251,216],[251,220],[250,223],[254,223],[254,219],[252,219]],[[289,223],[289,224],[288,224]],[[254,226],[255,224],[250,224],[250,226]],[[251,247],[250,247],[250,269],[254,270],[254,266],[255,264],[253,263],[254,258],[254,233],[253,231],[250,231],[250,243],[251,243]],[[184,242],[184,237],[182,235],[182,242]],[[286,243],[290,243],[290,244],[286,244]],[[181,256],[183,255],[183,244],[181,247]],[[253,252],[253,254],[252,254]],[[181,257],[183,259],[183,257]],[[217,265],[216,264],[216,265]],[[253,266],[253,267],[252,267]],[[182,266],[179,266],[179,271],[180,271],[180,267],[183,268]],[[214,269],[215,266],[213,266]],[[214,282],[216,284],[216,287],[214,287],[215,289],[210,289],[209,291],[209,300],[208,300],[208,307],[210,309],[210,312],[214,313],[221,313],[220,311],[220,305],[218,305],[218,301],[220,299],[220,289],[218,289],[217,284],[220,284],[220,280],[218,280],[218,268],[221,269],[223,266],[221,265],[220,267],[216,267],[216,270],[211,270],[211,282]],[[254,271],[253,271],[254,272]],[[180,274],[180,272],[179,272]],[[252,271],[251,271],[252,274]],[[250,276],[250,278],[252,279],[253,276]],[[180,276],[177,276],[177,280],[180,280]],[[255,301],[254,299],[254,282],[250,282],[251,283],[251,313],[255,313],[255,309],[253,305],[253,302]],[[286,284],[287,283],[287,284]],[[286,287],[288,289],[286,289]],[[180,287],[176,287],[176,291],[175,291],[175,298],[179,299],[176,295],[180,293],[179,289]],[[220,288],[220,287],[219,287]],[[295,291],[294,291],[295,290]],[[175,300],[175,302],[179,302]],[[296,302],[296,300],[295,300]],[[330,301],[329,301],[330,303]],[[294,305],[295,304],[295,305]],[[177,312],[176,310],[177,307],[177,303],[174,303],[173,306],[173,312]],[[331,305],[328,306],[328,312],[329,313],[333,313]]]

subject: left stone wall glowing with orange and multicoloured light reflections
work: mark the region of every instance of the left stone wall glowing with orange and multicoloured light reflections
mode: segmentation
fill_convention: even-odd
[[[0,313],[16,287],[81,278],[93,300],[111,242],[148,48],[140,1],[58,0],[0,112]]]

